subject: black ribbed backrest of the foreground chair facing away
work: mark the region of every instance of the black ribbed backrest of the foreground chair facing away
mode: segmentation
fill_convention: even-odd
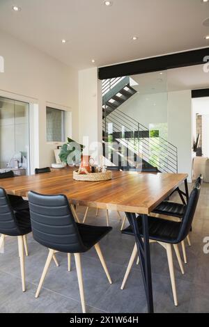
[[[65,253],[84,252],[84,244],[64,195],[45,196],[29,192],[33,238],[38,243]]]

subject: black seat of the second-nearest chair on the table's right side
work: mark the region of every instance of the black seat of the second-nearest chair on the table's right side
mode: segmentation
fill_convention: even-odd
[[[164,214],[166,216],[183,218],[186,207],[186,205],[183,205],[181,203],[163,201],[155,208],[155,210],[153,210],[153,212],[155,214]]]

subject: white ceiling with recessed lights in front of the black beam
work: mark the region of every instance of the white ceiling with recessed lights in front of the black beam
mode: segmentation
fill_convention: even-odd
[[[207,17],[202,0],[0,0],[0,29],[79,69],[209,46]]]

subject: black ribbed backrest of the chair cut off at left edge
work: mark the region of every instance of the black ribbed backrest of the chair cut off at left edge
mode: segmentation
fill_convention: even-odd
[[[0,234],[9,236],[20,235],[15,214],[8,200],[6,191],[0,188]]]

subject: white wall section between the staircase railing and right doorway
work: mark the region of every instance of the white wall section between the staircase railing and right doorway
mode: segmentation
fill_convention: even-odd
[[[168,93],[169,142],[178,148],[178,173],[192,180],[192,95],[191,90]]]

